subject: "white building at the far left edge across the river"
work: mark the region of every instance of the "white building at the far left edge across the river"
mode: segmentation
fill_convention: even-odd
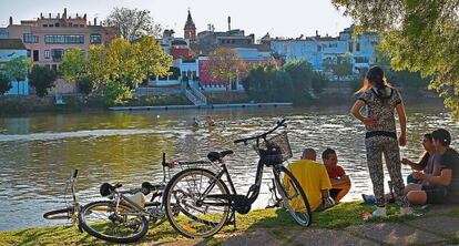
[[[0,70],[3,70],[4,63],[13,60],[14,58],[26,57],[27,49],[20,39],[0,39]],[[26,76],[24,81],[11,81],[12,88],[6,93],[6,95],[28,95],[29,94],[29,80]]]

